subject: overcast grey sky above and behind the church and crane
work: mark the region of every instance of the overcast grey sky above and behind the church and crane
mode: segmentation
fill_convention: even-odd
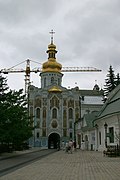
[[[40,63],[31,69],[41,67],[51,29],[62,66],[102,70],[64,73],[63,86],[92,89],[97,82],[103,88],[110,65],[120,72],[120,0],[0,0],[0,69],[26,59]],[[24,74],[7,78],[11,89],[24,88]],[[31,82],[40,87],[39,74],[31,73]]]

